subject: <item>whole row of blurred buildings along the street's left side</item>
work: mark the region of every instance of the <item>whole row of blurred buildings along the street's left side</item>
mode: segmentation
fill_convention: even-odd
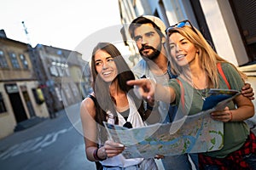
[[[37,123],[35,118],[55,118],[89,92],[90,66],[82,54],[42,44],[32,48],[0,31],[0,139]]]

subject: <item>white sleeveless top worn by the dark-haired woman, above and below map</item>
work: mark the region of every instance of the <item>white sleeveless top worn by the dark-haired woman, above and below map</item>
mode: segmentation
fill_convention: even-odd
[[[134,104],[131,96],[127,94],[127,99],[129,102],[130,112],[127,118],[127,122],[131,122],[132,127],[144,127],[145,124],[143,122],[142,117],[139,115],[137,111],[136,105]],[[114,124],[113,114],[110,111],[107,111],[108,114],[108,123]],[[117,115],[119,117],[119,126],[123,126],[125,124],[125,118],[119,114],[117,111]],[[143,158],[133,158],[133,159],[125,159],[122,154],[118,156],[110,157],[104,161],[101,161],[102,165],[112,166],[112,167],[130,167],[132,165],[137,165],[143,161]]]

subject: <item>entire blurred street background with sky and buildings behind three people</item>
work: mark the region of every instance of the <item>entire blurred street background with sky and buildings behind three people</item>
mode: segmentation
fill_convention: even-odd
[[[217,54],[247,74],[256,91],[255,0],[1,4],[1,170],[95,169],[85,157],[77,123],[79,104],[91,91],[92,48],[97,42],[112,42],[129,66],[136,65],[141,57],[127,24],[140,15],[157,16],[166,26],[190,20]],[[256,116],[247,122],[256,133]]]

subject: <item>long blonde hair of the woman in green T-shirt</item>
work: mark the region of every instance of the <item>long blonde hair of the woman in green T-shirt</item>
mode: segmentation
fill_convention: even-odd
[[[177,32],[183,37],[186,37],[189,40],[189,42],[195,45],[195,48],[199,50],[198,57],[201,60],[201,68],[207,72],[207,76],[212,82],[213,87],[218,88],[219,79],[218,69],[216,65],[218,62],[230,62],[228,62],[227,60],[220,57],[217,53],[215,53],[215,51],[212,49],[207,40],[202,36],[200,31],[198,31],[196,28],[195,31],[191,28],[191,26],[174,27],[172,28],[172,30],[168,32],[168,35],[171,36],[172,33]],[[171,56],[169,47],[169,37],[166,38],[166,41],[167,54]],[[180,75],[182,73],[182,68],[179,65],[177,65],[176,61],[172,57],[170,57],[170,59],[173,72],[177,74],[177,76]],[[233,66],[236,69],[236,71],[238,71],[236,66]],[[238,72],[243,80],[247,78],[247,76],[243,72]]]

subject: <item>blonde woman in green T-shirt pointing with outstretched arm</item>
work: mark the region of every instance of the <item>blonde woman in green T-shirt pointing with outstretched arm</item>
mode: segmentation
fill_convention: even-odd
[[[128,81],[128,85],[139,87],[143,99],[163,100],[172,105],[179,105],[183,84],[187,111],[185,114],[196,114],[201,111],[209,88],[228,88],[218,72],[218,63],[230,88],[241,90],[246,76],[238,71],[236,66],[218,56],[189,20],[170,26],[166,29],[166,34],[166,48],[178,81],[171,80],[169,87],[163,87],[148,79]],[[221,150],[199,154],[201,169],[255,169],[256,161],[253,160],[256,157],[256,139],[244,122],[253,115],[252,101],[242,94],[236,96],[223,111],[211,113],[212,119],[224,122],[224,147]]]

